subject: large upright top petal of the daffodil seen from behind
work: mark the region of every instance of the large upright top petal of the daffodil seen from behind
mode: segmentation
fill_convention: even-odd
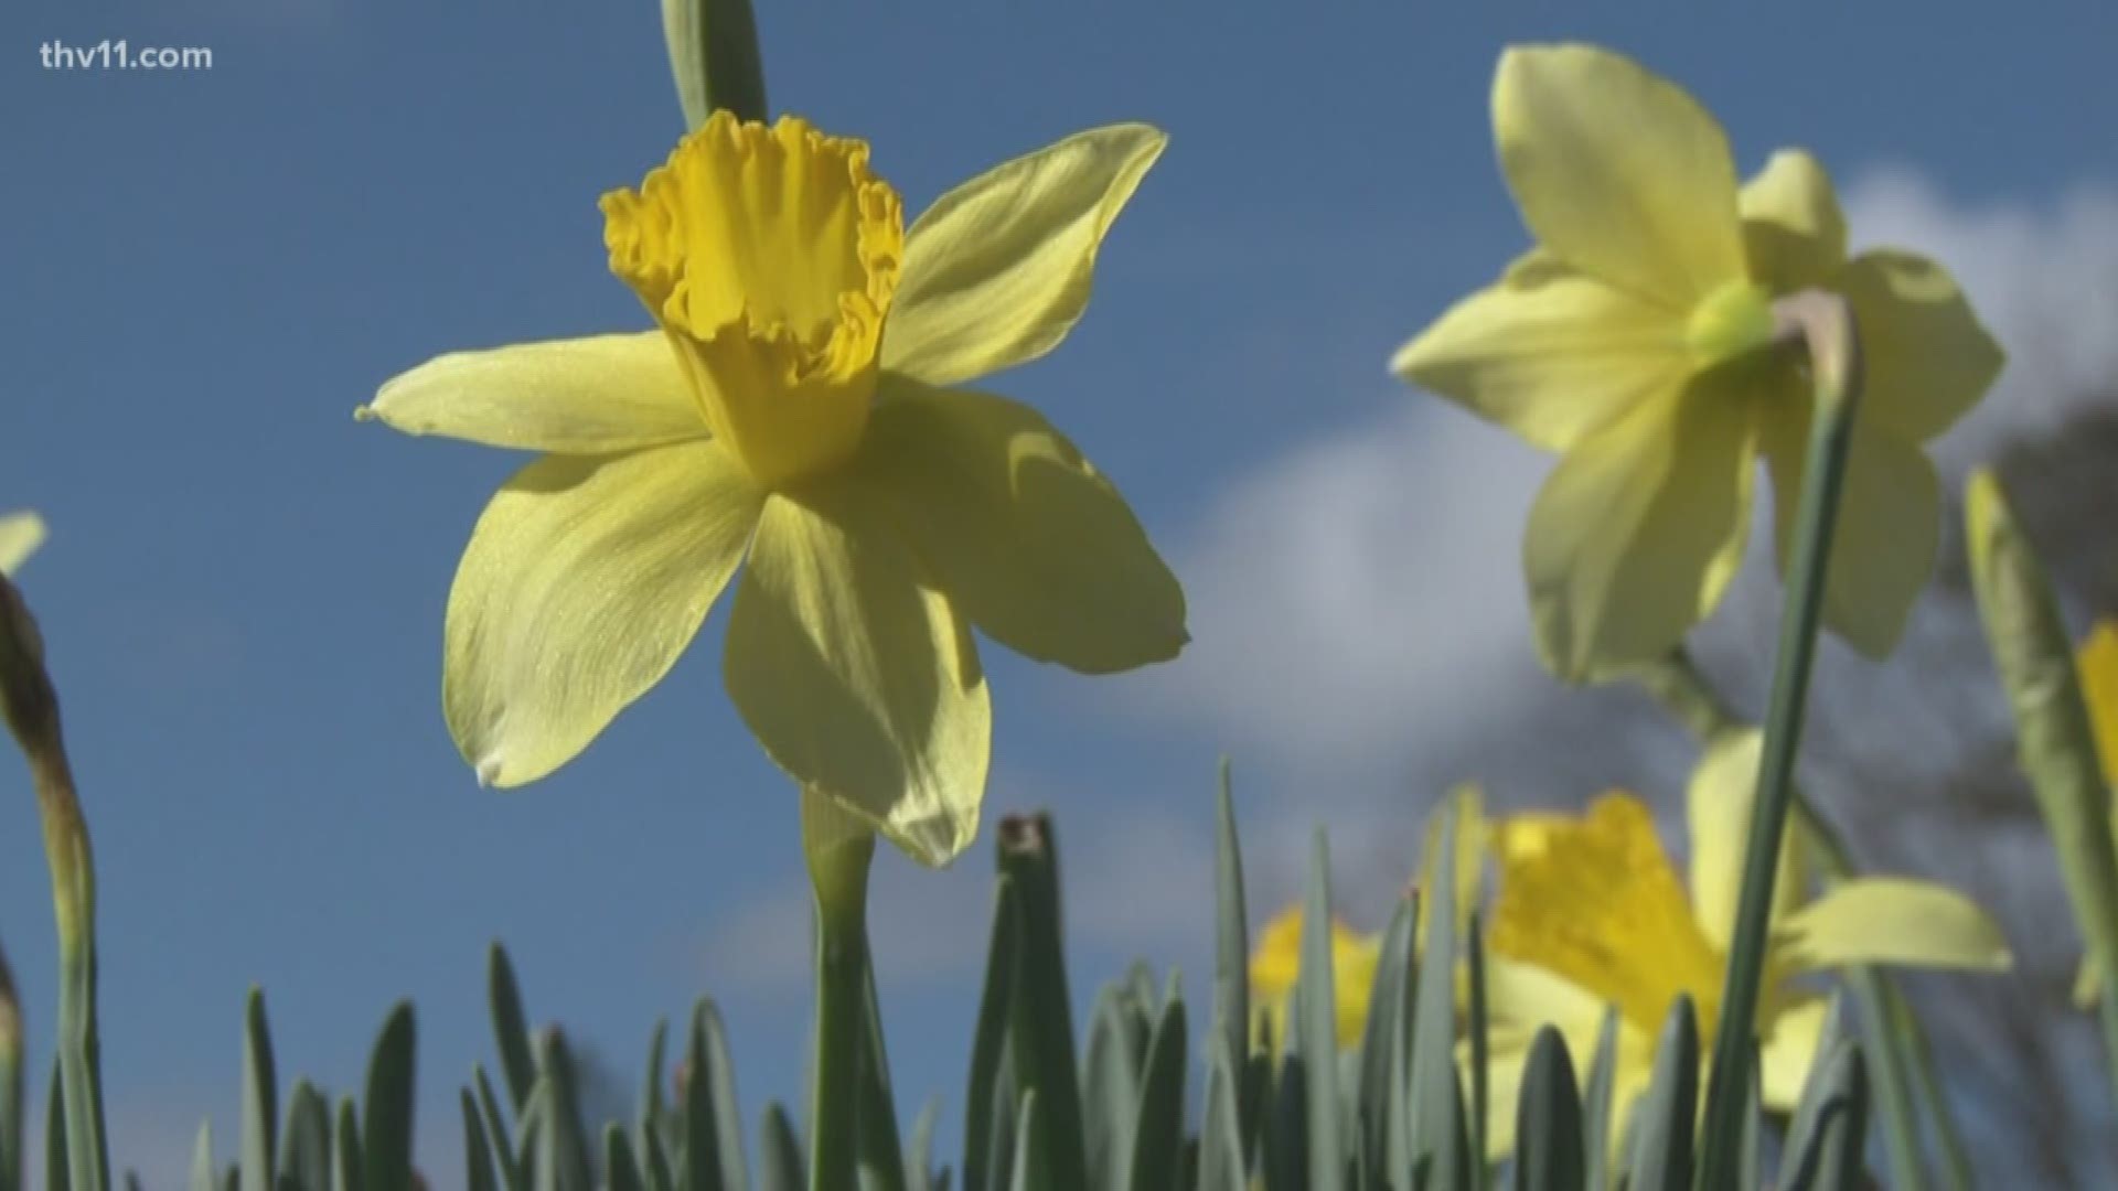
[[[1523,47],[1493,76],[1493,136],[1538,244],[1673,309],[1743,280],[1728,138],[1629,57]]]

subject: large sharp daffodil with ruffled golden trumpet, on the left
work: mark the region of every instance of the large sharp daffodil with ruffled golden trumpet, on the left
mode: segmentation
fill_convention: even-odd
[[[864,142],[716,112],[602,203],[657,331],[385,384],[362,415],[544,451],[449,593],[443,706],[479,778],[576,757],[733,581],[722,674],[765,750],[940,865],[991,746],[974,625],[1091,674],[1173,657],[1184,596],[1116,487],[1036,411],[953,388],[1067,335],[1161,148],[1070,136],[907,231]]]

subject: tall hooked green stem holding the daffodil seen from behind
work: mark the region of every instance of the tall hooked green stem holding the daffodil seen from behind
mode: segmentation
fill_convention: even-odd
[[[1699,1187],[1735,1187],[1743,1098],[1752,1081],[1752,1045],[1758,992],[1764,981],[1764,947],[1773,916],[1773,879],[1779,848],[1794,803],[1794,757],[1802,740],[1802,708],[1809,670],[1824,623],[1824,579],[1838,521],[1847,456],[1853,445],[1853,415],[1860,409],[1860,339],[1853,309],[1838,295],[1800,292],[1775,307],[1783,337],[1809,345],[1815,379],[1809,456],[1802,468],[1802,498],[1788,574],[1788,602],[1779,623],[1779,659],[1773,665],[1773,695],[1764,716],[1764,759],[1758,799],[1743,856],[1743,894],[1737,903],[1735,939],[1728,952],[1728,983],[1722,992],[1720,1028],[1713,1038],[1713,1074],[1707,1083],[1705,1155]]]

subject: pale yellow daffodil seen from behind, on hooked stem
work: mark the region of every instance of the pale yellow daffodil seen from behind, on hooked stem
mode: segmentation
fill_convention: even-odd
[[[1652,661],[1703,621],[1743,557],[1758,456],[1785,566],[1811,390],[1773,301],[1805,288],[1849,299],[1866,354],[1824,619],[1889,653],[1940,536],[1921,443],[2002,367],[1949,273],[1896,250],[1849,261],[1809,153],[1737,186],[1713,117],[1616,53],[1510,49],[1493,134],[1536,248],[1392,369],[1561,454],[1523,543],[1546,665],[1584,680]]]

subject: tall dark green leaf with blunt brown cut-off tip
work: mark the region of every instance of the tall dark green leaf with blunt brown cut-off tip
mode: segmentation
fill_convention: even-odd
[[[1065,977],[1065,930],[1059,909],[1059,839],[1051,816],[1010,816],[1000,824],[1000,867],[1021,899],[1023,954],[1015,983],[1015,1077],[1038,1094],[1040,1142],[1048,1146],[1057,1187],[1087,1187],[1089,1161],[1080,1119],[1080,1072],[1074,1068],[1074,1009]]]

